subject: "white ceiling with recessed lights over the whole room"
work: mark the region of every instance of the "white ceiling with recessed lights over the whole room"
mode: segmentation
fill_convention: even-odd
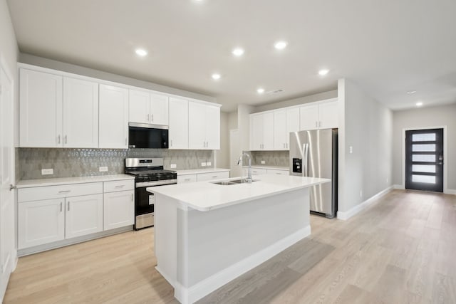
[[[393,110],[456,102],[455,0],[8,4],[21,52],[214,96],[222,110],[335,89],[338,78]],[[279,39],[289,43],[283,51],[273,47]],[[138,58],[138,47],[149,55]],[[331,72],[322,78],[320,68]]]

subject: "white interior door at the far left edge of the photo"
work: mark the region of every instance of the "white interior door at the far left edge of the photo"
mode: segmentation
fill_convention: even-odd
[[[0,65],[0,302],[16,259],[13,82]]]

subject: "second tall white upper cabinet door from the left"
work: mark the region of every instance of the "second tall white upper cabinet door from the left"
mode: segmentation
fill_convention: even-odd
[[[63,147],[98,147],[98,83],[63,78]]]

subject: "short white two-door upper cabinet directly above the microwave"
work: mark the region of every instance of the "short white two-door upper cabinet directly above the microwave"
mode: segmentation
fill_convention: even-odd
[[[168,97],[140,90],[130,90],[130,122],[168,125]]]

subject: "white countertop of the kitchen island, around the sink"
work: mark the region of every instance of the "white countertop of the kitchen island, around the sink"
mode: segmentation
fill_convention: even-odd
[[[232,180],[239,179],[234,177]],[[219,185],[211,182],[172,184],[160,187],[149,187],[147,191],[162,194],[180,201],[182,204],[199,211],[219,209],[244,201],[252,201],[296,189],[311,187],[316,184],[331,182],[331,179],[314,177],[295,177],[289,175],[264,174],[254,176],[257,182],[252,184]]]

